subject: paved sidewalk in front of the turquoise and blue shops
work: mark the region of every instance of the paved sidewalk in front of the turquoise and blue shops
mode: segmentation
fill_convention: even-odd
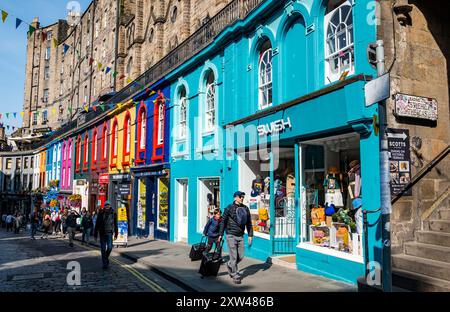
[[[81,234],[76,235],[81,240]],[[93,239],[93,246],[99,243]],[[200,261],[189,259],[190,246],[183,243],[128,238],[128,247],[114,248],[113,253],[146,265],[180,286],[199,292],[355,292],[354,285],[333,281],[324,277],[303,273],[276,264],[244,258],[239,264],[243,270],[242,284],[236,285],[222,265],[217,278],[201,278]],[[226,254],[224,253],[224,256]]]

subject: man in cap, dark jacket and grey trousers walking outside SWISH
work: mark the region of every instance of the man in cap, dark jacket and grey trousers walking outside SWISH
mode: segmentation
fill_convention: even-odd
[[[220,236],[224,231],[227,233],[227,245],[230,260],[227,263],[228,274],[233,278],[234,283],[240,284],[241,272],[238,271],[238,263],[244,259],[244,234],[247,228],[248,245],[251,246],[253,240],[253,226],[250,209],[243,204],[245,193],[235,192],[234,202],[230,204],[223,213],[223,227]]]

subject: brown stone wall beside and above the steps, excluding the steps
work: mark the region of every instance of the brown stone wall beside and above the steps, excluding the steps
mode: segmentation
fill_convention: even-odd
[[[396,118],[392,113],[395,103],[392,99],[388,101],[389,127],[409,129],[414,177],[450,142],[450,3],[396,1],[397,6],[412,6],[411,13],[405,16],[401,13],[392,15],[393,2],[381,1],[379,25],[379,38],[384,40],[386,48],[386,68],[389,69],[393,64],[391,94],[435,98],[439,105],[438,121],[429,123]],[[402,252],[403,243],[414,239],[415,230],[422,226],[422,214],[450,186],[449,177],[450,157],[447,157],[414,186],[413,196],[403,197],[393,206],[393,253]]]

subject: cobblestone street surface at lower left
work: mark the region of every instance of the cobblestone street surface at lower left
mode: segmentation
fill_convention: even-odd
[[[67,240],[49,236],[31,240],[27,233],[12,234],[0,229],[0,292],[172,292],[183,291],[147,270],[142,264],[111,256],[104,271],[100,252]],[[81,285],[70,286],[67,276],[76,261],[81,268]]]

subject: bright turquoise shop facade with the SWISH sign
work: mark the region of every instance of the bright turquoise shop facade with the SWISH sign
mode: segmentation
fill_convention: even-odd
[[[330,15],[325,0],[265,1],[245,20],[227,27],[207,48],[165,77],[171,83],[172,105],[171,241],[194,244],[200,240],[205,204],[211,204],[205,199],[206,193],[213,193],[212,204],[222,211],[232,202],[232,194],[245,179],[242,160],[237,157],[240,151],[260,145],[268,145],[270,151],[279,145],[293,151],[295,230],[293,245],[287,253],[295,256],[297,268],[356,284],[356,279],[365,274],[365,262],[381,263],[379,213],[368,215],[368,245],[364,246],[368,259],[364,259],[363,252],[353,257],[321,247],[311,248],[300,221],[304,214],[302,151],[305,143],[314,140],[357,138],[364,189],[362,209],[376,210],[380,206],[379,137],[372,126],[377,110],[376,106],[364,105],[364,85],[376,76],[366,57],[368,44],[376,41],[376,23],[368,21],[372,13],[368,1],[339,4],[350,7],[353,17],[353,68],[342,81],[327,68],[325,23]],[[329,12],[336,9],[339,7],[332,7]],[[261,108],[258,67],[261,50],[268,41],[272,56],[272,101]],[[210,84],[215,92],[215,126],[205,130]],[[181,126],[184,119],[186,126]],[[274,122],[276,125],[280,121],[289,122],[289,126],[276,131],[277,136],[270,131],[256,137],[251,134],[251,131],[258,133],[258,129],[270,130]],[[243,136],[233,135],[239,127],[247,132]],[[232,145],[230,137],[235,138]],[[270,152],[267,159],[270,181],[275,179],[276,159]],[[205,181],[212,182],[212,186]],[[274,194],[274,183],[270,183],[269,191]],[[269,207],[273,218],[276,214],[273,198]],[[255,236],[251,247],[246,244],[245,256],[266,260],[285,254],[286,250],[277,247],[283,237],[281,240],[276,237],[276,226],[276,222],[271,222],[268,235]]]

